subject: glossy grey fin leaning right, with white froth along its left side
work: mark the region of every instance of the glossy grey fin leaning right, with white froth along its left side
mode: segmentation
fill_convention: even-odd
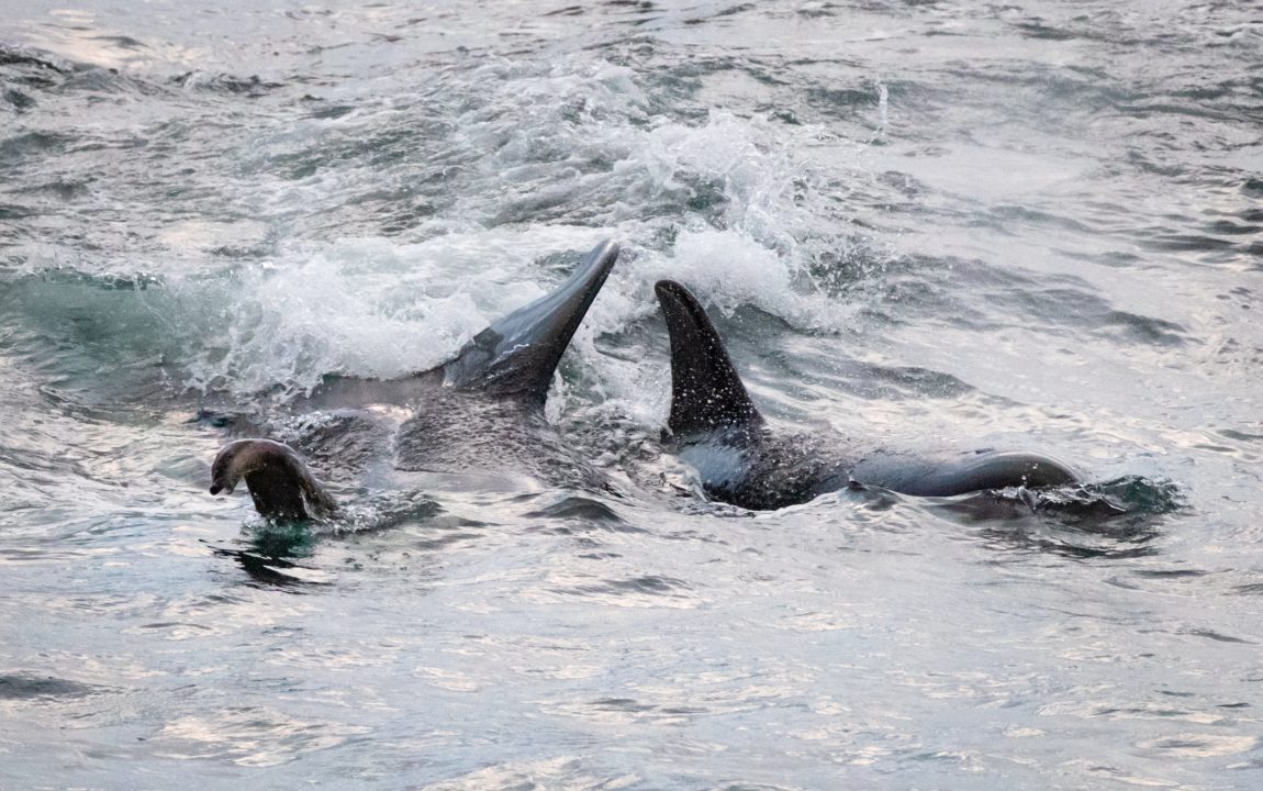
[[[443,384],[543,404],[553,371],[619,257],[602,241],[546,297],[482,330],[443,366]]]

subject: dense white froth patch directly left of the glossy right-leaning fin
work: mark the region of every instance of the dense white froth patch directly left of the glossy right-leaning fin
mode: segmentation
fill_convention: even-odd
[[[600,231],[541,227],[418,244],[344,239],[294,245],[205,289],[218,334],[188,363],[188,384],[251,393],[314,385],[326,373],[393,378],[431,369],[495,318],[546,293],[532,262],[595,245]],[[549,286],[551,287],[551,286]]]

